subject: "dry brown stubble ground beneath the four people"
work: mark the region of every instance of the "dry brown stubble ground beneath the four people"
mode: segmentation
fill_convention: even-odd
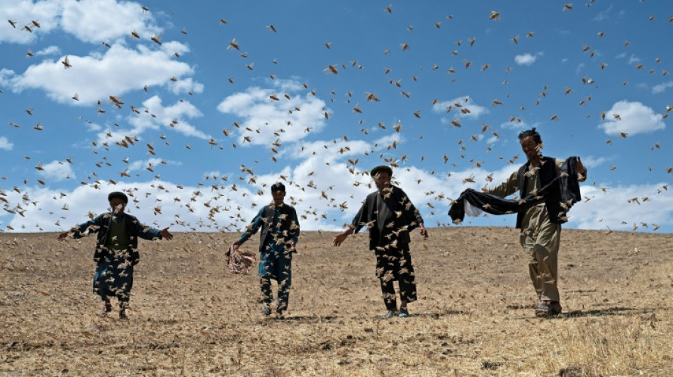
[[[670,376],[673,235],[564,230],[561,318],[536,304],[518,233],[412,235],[419,301],[384,313],[366,236],[305,232],[290,310],[260,313],[225,240],[140,241],[130,319],[98,317],[94,237],[0,234],[0,374],[8,376]],[[244,245],[256,249],[257,236]],[[637,249],[636,249],[637,248]],[[275,290],[275,288],[274,288]],[[116,308],[116,305],[115,305]]]

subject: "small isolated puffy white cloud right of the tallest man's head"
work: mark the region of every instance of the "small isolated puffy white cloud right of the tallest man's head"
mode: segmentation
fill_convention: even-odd
[[[633,136],[635,134],[655,132],[666,127],[662,115],[655,113],[654,110],[640,102],[621,100],[612,105],[612,108],[606,111],[605,115],[606,121],[599,124],[598,127],[609,135],[626,132],[630,136]],[[616,115],[621,120],[616,118]]]

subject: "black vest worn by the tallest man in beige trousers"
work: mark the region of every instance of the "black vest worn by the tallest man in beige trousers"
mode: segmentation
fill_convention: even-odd
[[[551,157],[543,157],[540,161],[540,170],[538,175],[540,176],[541,187],[545,187],[549,182],[556,178],[556,159]],[[524,198],[528,196],[526,192],[526,172],[528,171],[528,163],[526,162],[521,168],[519,168],[519,197]],[[562,219],[558,216],[561,209],[561,190],[560,185],[553,185],[550,187],[550,190],[546,192],[545,195],[545,205],[547,206],[547,215],[549,216],[549,221],[554,224],[562,224],[567,221],[567,219]],[[522,209],[519,213],[516,214],[516,228],[521,228],[521,223],[524,221],[524,214],[526,209]]]

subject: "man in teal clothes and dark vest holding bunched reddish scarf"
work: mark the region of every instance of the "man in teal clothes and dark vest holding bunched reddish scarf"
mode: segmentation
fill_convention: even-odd
[[[273,202],[259,210],[241,237],[234,242],[234,248],[245,243],[261,228],[259,237],[259,286],[264,296],[262,314],[270,315],[271,279],[278,282],[278,305],[276,314],[283,317],[288,309],[290,286],[292,286],[292,253],[299,240],[299,219],[294,207],[283,202],[285,185],[276,182],[271,186]]]

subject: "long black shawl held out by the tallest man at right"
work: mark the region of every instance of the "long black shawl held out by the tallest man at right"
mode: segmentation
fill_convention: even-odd
[[[521,181],[520,184],[523,184]],[[451,205],[448,210],[448,216],[454,223],[465,219],[465,201],[472,204],[473,207],[485,211],[489,214],[518,214],[536,204],[544,202],[550,192],[560,193],[560,213],[553,214],[559,223],[567,221],[567,211],[573,204],[582,199],[579,192],[579,181],[577,180],[577,157],[567,158],[560,168],[559,175],[542,187],[536,195],[528,195],[524,199],[511,200],[503,199],[486,192],[477,192],[468,189],[460,194],[460,197]],[[550,214],[551,216],[552,214]],[[554,221],[554,222],[557,222]],[[517,224],[517,228],[519,228]]]

